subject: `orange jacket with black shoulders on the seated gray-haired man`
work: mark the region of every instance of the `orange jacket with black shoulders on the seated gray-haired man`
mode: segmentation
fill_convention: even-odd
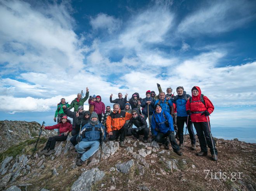
[[[115,111],[113,111],[111,114],[108,115],[108,118],[106,120],[107,132],[109,133],[113,130],[120,130],[124,126],[125,121],[131,118],[132,114],[125,111],[119,110],[118,113],[115,113]]]

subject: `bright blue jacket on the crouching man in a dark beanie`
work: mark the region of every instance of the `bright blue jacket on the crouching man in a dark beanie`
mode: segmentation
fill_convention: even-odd
[[[165,118],[164,118],[164,114]],[[155,116],[155,117],[154,117]],[[169,127],[166,126],[165,121],[168,121]],[[167,131],[174,131],[173,128],[173,120],[171,114],[167,113],[166,111],[161,111],[161,113],[155,113],[153,112],[152,119],[151,119],[151,132],[153,135],[157,135],[157,131],[155,128],[158,129],[158,131],[166,134]]]

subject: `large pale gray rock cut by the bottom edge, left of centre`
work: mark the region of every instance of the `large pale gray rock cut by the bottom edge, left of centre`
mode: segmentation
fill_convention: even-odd
[[[105,176],[98,168],[87,170],[73,183],[70,191],[90,191],[92,183],[100,181]]]

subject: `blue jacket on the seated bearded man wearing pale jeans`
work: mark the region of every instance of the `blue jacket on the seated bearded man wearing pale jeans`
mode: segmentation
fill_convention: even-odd
[[[103,132],[103,133],[102,133]],[[91,123],[85,124],[81,129],[82,141],[99,141],[103,136],[103,140],[106,138],[106,128],[102,123],[91,125]]]

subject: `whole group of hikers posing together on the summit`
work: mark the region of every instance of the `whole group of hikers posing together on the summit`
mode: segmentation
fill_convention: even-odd
[[[118,99],[110,102],[113,104],[113,111],[101,101],[100,95],[89,97],[89,89],[86,88],[85,97],[78,93],[77,97],[68,104],[64,98],[57,104],[53,126],[42,126],[45,130],[58,129],[59,135],[50,137],[44,149],[38,154],[49,156],[55,152],[54,147],[57,141],[64,141],[71,132],[70,142],[75,147],[78,156],[78,166],[99,150],[99,145],[104,141],[120,141],[120,147],[125,147],[125,137],[134,136],[139,140],[143,135],[143,142],[148,143],[151,134],[151,141],[156,141],[178,155],[183,155],[181,148],[184,148],[184,124],[188,130],[191,149],[196,150],[195,133],[193,124],[197,131],[200,143],[198,156],[207,155],[207,146],[210,148],[211,158],[217,161],[217,150],[214,139],[211,136],[209,115],[213,112],[212,102],[201,93],[199,87],[194,86],[191,90],[192,96],[186,94],[184,88],[176,88],[178,95],[172,94],[172,88],[167,87],[166,94],[162,91],[160,84],[157,84],[159,94],[155,91],[146,91],[146,97],[141,98],[135,92],[131,99],[127,95],[123,98],[118,93]],[[89,98],[89,111],[84,111],[84,102]],[[74,111],[70,109],[74,108]],[[106,110],[105,110],[106,109]],[[72,118],[73,122],[68,119]],[[148,123],[146,119],[148,118]],[[133,125],[135,127],[133,127]],[[174,135],[176,132],[176,136]],[[176,142],[179,140],[179,144]]]

